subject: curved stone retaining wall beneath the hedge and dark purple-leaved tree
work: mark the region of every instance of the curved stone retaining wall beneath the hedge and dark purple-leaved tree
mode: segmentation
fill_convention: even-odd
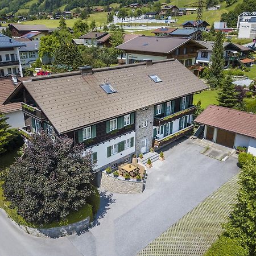
[[[66,226],[57,226],[55,228],[49,228],[49,229],[30,228],[28,226],[19,225],[19,227],[22,230],[24,230],[24,232],[31,234],[31,236],[51,237],[51,238],[64,237],[73,233],[81,233],[84,230],[88,229],[89,226],[90,226],[90,217],[87,217],[84,220],[81,220]]]

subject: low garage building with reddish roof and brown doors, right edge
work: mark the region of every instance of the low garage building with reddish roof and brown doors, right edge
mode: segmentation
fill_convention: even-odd
[[[247,147],[256,156],[256,114],[209,105],[195,122],[204,125],[204,138],[227,147]]]

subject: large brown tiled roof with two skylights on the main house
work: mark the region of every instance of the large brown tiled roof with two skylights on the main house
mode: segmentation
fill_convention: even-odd
[[[155,83],[148,75],[157,75],[162,82]],[[59,133],[207,88],[174,59],[93,69],[93,74],[84,76],[79,72],[52,76],[23,85]],[[106,83],[117,92],[105,93],[100,85]]]

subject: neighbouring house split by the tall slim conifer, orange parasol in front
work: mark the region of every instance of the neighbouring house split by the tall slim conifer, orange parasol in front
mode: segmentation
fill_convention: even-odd
[[[205,48],[200,49],[197,54],[196,63],[201,65],[209,65],[210,56],[212,55],[214,42],[212,41],[197,41]],[[254,60],[251,60],[247,56],[249,52],[254,52],[249,47],[240,46],[240,44],[224,42],[224,57],[225,67],[237,67],[240,65],[246,65],[250,67]]]

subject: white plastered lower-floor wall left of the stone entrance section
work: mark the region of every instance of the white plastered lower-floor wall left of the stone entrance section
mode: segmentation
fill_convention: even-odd
[[[129,139],[131,137],[134,137],[133,147],[127,148],[126,150],[123,150],[122,152],[114,154],[108,158],[107,148],[109,146],[117,144],[118,142],[121,142],[121,141],[125,141],[125,139]],[[133,152],[135,152],[135,131],[121,135],[121,137],[111,139],[110,141],[106,141],[105,143],[98,144],[98,146],[96,145],[96,146],[93,146],[92,148],[87,148],[86,151],[90,151],[90,150],[92,150],[93,152],[97,152],[97,165],[96,167],[94,167],[94,169],[105,166],[106,164],[112,163],[122,158],[123,156],[133,154]]]

